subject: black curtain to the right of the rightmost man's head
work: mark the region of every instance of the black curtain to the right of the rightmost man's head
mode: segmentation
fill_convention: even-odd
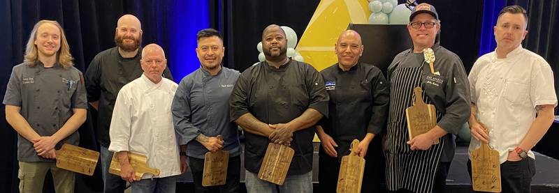
[[[528,13],[528,34],[522,47],[542,56],[551,65],[555,91],[559,98],[559,1],[515,0],[507,6],[518,5]],[[558,111],[556,111],[558,114]]]

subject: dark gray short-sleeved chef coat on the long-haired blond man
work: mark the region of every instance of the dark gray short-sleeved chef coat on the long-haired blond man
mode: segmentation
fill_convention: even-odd
[[[55,63],[45,68],[43,63],[14,66],[6,88],[4,105],[21,107],[20,114],[41,136],[55,134],[73,115],[72,109],[87,109],[83,75],[77,68],[64,69]],[[78,132],[62,139],[62,144],[78,145]],[[37,155],[31,141],[17,136],[17,160],[20,162],[55,162]]]

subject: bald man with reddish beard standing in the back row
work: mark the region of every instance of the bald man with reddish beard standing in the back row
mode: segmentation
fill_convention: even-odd
[[[95,56],[85,72],[87,101],[98,112],[96,120],[96,139],[101,145],[101,171],[104,192],[122,192],[126,182],[108,173],[112,153],[109,152],[109,125],[112,109],[120,88],[143,74],[140,66],[142,26],[133,15],[120,17],[115,29],[116,47]],[[164,77],[173,80],[169,70]]]

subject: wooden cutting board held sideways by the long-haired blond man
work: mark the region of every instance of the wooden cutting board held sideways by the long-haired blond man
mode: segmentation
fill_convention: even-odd
[[[60,150],[56,150],[56,154],[58,168],[87,176],[93,175],[99,160],[99,152],[71,144],[63,144]]]

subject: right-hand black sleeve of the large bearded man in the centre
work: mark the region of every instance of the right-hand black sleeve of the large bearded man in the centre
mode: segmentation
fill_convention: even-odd
[[[320,72],[314,69],[312,65],[307,65],[306,71],[305,82],[310,97],[308,108],[315,109],[328,118],[328,100],[330,100],[330,96],[326,93],[324,79],[322,79]]]

